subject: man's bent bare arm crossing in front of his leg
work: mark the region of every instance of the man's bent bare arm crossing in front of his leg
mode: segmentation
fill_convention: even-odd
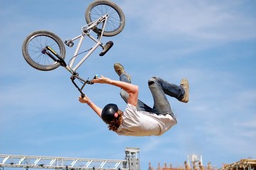
[[[139,94],[139,86],[134,84],[129,84],[124,81],[116,81],[109,79],[107,77],[97,77],[96,79],[92,80],[93,83],[100,83],[100,84],[110,84],[113,86],[118,86],[119,88],[127,91],[129,94],[128,103],[132,104],[133,106],[137,106],[138,103],[138,94]]]

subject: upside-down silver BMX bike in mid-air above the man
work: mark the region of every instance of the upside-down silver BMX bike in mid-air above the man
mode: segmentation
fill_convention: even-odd
[[[112,41],[102,44],[102,37],[111,37],[122,32],[125,25],[124,13],[117,4],[109,0],[96,0],[87,6],[85,11],[85,21],[87,25],[82,26],[80,35],[75,38],[65,40],[65,45],[73,47],[74,41],[79,40],[73,57],[70,57],[69,62],[65,62],[65,45],[63,41],[48,30],[37,30],[31,33],[23,41],[22,53],[23,57],[31,65],[31,67],[41,70],[50,71],[59,66],[65,67],[72,75],[71,81],[80,91],[81,96],[85,96],[82,89],[86,84],[93,84],[92,81],[82,79],[76,70],[82,65],[85,60],[90,57],[97,47],[102,47],[100,56],[106,54],[114,44]],[[95,35],[91,33],[94,32]],[[77,64],[74,64],[76,57],[84,52],[80,52],[81,45],[85,36],[89,37],[95,44],[86,50],[86,55],[82,57]],[[95,38],[97,36],[97,38]],[[94,79],[97,77],[95,75]],[[75,83],[78,79],[82,86]]]

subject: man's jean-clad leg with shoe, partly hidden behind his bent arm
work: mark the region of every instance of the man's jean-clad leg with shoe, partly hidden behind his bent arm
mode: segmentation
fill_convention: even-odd
[[[114,71],[117,72],[117,74],[119,75],[119,80],[120,81],[124,81],[124,82],[127,82],[129,84],[131,83],[131,76],[124,71],[124,67],[122,66],[122,64],[115,63],[114,64]],[[120,96],[122,97],[124,102],[127,103],[127,99],[129,97],[129,94],[126,91],[124,91],[123,89],[121,89]],[[147,106],[142,101],[138,100],[137,110],[138,111],[148,111],[148,112],[150,112],[152,110],[152,108]]]

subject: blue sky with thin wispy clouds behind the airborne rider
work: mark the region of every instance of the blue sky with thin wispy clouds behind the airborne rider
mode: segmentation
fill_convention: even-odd
[[[186,77],[190,101],[169,98],[178,124],[161,137],[110,132],[78,101],[69,72],[41,72],[23,59],[22,42],[34,30],[63,41],[79,35],[90,2],[0,0],[0,154],[124,159],[125,147],[139,147],[141,169],[181,166],[191,154],[218,168],[256,159],[256,1],[114,1],[126,16],[124,30],[103,38],[112,49],[104,57],[98,49],[78,72],[118,79],[113,64],[120,62],[149,106],[150,77],[174,84]],[[67,59],[74,50],[66,47]],[[125,107],[114,86],[86,86],[85,94],[100,107]]]

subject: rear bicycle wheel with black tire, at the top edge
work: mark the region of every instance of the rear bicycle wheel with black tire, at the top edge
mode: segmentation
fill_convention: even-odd
[[[93,1],[85,11],[85,20],[87,24],[92,23],[92,21],[97,20],[101,16],[108,14],[109,18],[107,20],[105,31],[103,36],[111,37],[122,32],[125,26],[125,17],[124,13],[117,4],[114,4],[112,1],[108,0],[96,0]],[[102,24],[93,31],[97,34],[101,33]]]

